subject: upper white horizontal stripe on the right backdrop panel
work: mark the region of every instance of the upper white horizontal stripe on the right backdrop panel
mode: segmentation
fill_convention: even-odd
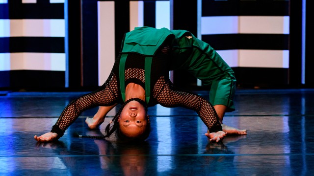
[[[202,17],[201,33],[206,34],[289,34],[288,16]]]

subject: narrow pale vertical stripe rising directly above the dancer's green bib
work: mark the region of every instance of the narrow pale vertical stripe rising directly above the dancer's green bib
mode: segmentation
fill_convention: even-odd
[[[144,25],[144,2],[130,1],[130,31]]]

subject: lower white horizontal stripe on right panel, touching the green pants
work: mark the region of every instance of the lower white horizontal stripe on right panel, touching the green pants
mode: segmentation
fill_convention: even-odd
[[[230,67],[288,68],[288,50],[217,50]]]

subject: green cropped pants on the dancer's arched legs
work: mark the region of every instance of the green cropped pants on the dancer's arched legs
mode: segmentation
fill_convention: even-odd
[[[227,112],[235,110],[236,80],[231,67],[209,44],[195,37],[177,38],[177,44],[173,68],[186,69],[204,85],[210,86],[209,102],[212,105],[225,105]]]

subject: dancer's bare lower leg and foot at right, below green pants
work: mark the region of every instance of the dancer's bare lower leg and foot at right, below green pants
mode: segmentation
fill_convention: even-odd
[[[227,125],[222,123],[222,120],[224,118],[225,112],[227,110],[226,106],[224,106],[224,105],[214,105],[214,109],[216,110],[217,115],[219,117],[219,122],[221,123],[222,131],[227,132],[227,134],[238,134],[238,135],[246,134],[246,130],[239,130],[239,129],[227,126]]]

